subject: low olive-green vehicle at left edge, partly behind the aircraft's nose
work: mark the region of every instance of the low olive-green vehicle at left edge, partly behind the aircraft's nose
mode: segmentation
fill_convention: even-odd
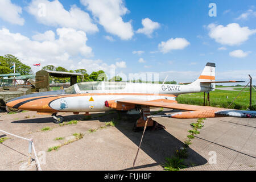
[[[22,110],[19,109],[14,109],[11,107],[6,106],[6,103],[9,102],[10,100],[13,100],[16,97],[24,96],[24,92],[22,91],[15,91],[15,92],[10,92],[10,91],[3,91],[0,92],[0,107],[1,109],[6,109],[8,113],[19,113]]]

